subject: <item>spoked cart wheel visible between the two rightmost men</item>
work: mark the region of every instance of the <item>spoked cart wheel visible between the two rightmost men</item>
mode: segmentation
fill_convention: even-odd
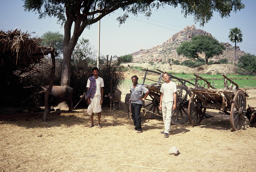
[[[160,97],[154,97],[153,95],[149,94],[149,97],[151,97],[151,99],[146,99],[145,101],[143,101],[143,108],[145,108],[146,110],[143,110],[145,115],[149,118],[149,119],[156,119],[156,118],[161,118],[162,113],[159,112],[159,102],[160,102]],[[150,103],[148,103],[150,102]],[[148,104],[147,104],[148,103]]]

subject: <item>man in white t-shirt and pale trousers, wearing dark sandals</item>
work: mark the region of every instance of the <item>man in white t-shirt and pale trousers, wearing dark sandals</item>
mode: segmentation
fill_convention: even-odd
[[[163,113],[163,123],[164,131],[160,133],[164,134],[164,137],[169,137],[170,124],[172,117],[172,110],[176,108],[176,98],[177,98],[177,87],[173,81],[170,81],[170,76],[167,72],[163,73],[163,79],[166,83],[163,83],[161,86],[160,92],[160,105],[159,109]]]

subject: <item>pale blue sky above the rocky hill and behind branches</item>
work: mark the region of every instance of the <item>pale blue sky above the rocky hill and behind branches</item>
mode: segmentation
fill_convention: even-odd
[[[152,10],[152,15],[147,19],[144,15],[134,16],[129,14],[127,21],[119,26],[116,18],[122,15],[122,10],[116,10],[114,13],[103,17],[100,20],[100,54],[101,55],[127,55],[140,49],[150,49],[157,45],[162,45],[175,33],[183,30],[186,26],[195,25],[196,29],[202,29],[219,42],[232,43],[228,39],[231,28],[238,27],[243,34],[243,42],[237,43],[241,51],[256,55],[256,1],[242,0],[245,8],[231,12],[230,17],[221,18],[219,13],[214,16],[204,27],[199,23],[194,23],[193,16],[184,17],[181,8],[165,6],[157,11]],[[57,24],[57,18],[47,17],[38,19],[35,12],[24,11],[24,2],[22,0],[0,1],[0,30],[8,31],[16,28],[22,32],[28,31],[31,37],[42,36],[47,31],[64,34],[64,27]],[[98,50],[98,23],[92,24],[90,29],[85,29],[80,39],[88,39],[95,50]]]

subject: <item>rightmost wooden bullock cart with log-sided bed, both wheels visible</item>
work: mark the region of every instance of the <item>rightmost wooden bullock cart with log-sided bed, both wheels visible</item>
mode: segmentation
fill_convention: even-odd
[[[206,79],[196,76],[195,87],[188,103],[190,123],[197,126],[203,119],[206,109],[217,109],[219,113],[230,115],[231,127],[234,131],[241,129],[246,111],[246,90],[239,88],[230,78],[224,77],[224,88],[216,89]]]

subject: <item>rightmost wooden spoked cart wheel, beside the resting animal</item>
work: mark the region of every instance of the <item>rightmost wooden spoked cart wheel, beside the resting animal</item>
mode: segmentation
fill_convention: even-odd
[[[243,90],[236,92],[230,111],[230,123],[234,131],[240,130],[243,126],[246,111],[246,99]]]

